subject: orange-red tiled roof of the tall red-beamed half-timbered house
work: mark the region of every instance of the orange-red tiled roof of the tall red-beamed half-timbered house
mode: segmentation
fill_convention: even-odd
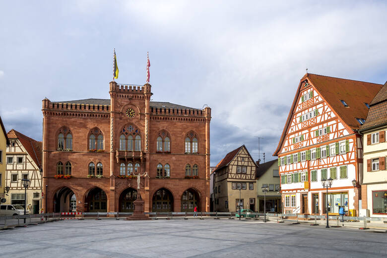
[[[298,103],[302,82],[305,79],[308,79],[315,87],[316,91],[332,107],[340,120],[353,130],[360,128],[360,124],[356,118],[366,119],[367,117],[369,110],[364,103],[370,103],[383,86],[377,83],[329,77],[313,73],[305,74],[300,80],[285,127],[273,156],[277,156],[282,147],[288,127],[293,118],[293,111]],[[344,100],[348,104],[348,107],[345,107],[340,100]]]

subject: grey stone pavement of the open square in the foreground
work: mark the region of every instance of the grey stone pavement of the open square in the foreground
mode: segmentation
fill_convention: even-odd
[[[387,234],[261,220],[66,220],[0,231],[0,257],[387,257]]]

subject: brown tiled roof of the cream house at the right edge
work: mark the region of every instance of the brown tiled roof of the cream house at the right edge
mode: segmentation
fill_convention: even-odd
[[[370,112],[360,131],[387,125],[387,82],[370,104]]]

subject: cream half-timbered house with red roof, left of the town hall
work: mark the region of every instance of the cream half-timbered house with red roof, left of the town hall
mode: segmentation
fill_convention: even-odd
[[[30,180],[27,193],[27,207],[31,213],[39,213],[42,207],[42,142],[36,141],[14,129],[7,133],[10,144],[6,149],[6,178],[10,198],[6,204],[24,207],[22,179]]]

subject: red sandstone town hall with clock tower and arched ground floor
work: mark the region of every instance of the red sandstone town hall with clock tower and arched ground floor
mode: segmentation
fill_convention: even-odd
[[[110,99],[43,100],[44,209],[130,212],[141,194],[145,212],[207,211],[211,109],[109,86]]]

